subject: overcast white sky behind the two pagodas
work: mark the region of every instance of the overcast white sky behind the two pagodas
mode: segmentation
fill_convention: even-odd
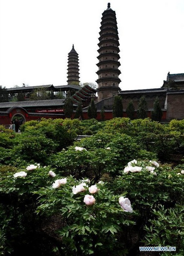
[[[67,84],[79,54],[80,81],[98,79],[102,13],[116,12],[122,90],[159,88],[184,73],[184,0],[0,0],[0,85]]]

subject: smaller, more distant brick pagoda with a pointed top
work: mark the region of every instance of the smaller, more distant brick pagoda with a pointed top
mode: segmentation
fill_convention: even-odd
[[[72,46],[72,50],[68,55],[68,80],[67,83],[71,84],[72,82],[80,83],[79,81],[79,58],[78,53],[74,49],[74,45]]]

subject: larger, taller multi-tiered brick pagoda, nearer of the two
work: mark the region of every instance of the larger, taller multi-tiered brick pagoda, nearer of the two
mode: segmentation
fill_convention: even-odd
[[[119,83],[121,82],[119,75],[120,66],[119,56],[119,36],[117,30],[117,21],[115,11],[108,8],[102,13],[100,37],[98,38],[99,56],[97,57],[99,62],[97,64],[98,75],[97,79],[97,92],[98,101],[115,96],[120,91]]]

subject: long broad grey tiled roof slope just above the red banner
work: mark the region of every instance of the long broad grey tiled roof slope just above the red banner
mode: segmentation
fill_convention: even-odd
[[[29,100],[29,101],[19,101],[19,102],[1,102],[0,108],[10,108],[10,107],[53,107],[64,105],[64,99],[56,100]]]

